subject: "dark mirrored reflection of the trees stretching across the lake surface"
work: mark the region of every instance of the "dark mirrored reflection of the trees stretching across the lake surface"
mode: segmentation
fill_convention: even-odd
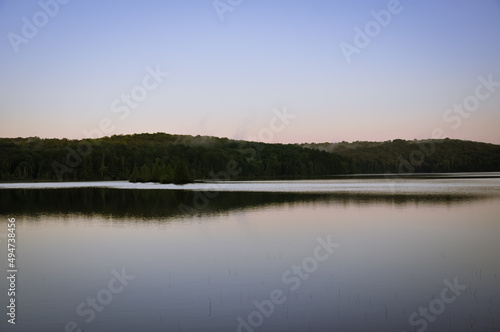
[[[208,195],[207,195],[208,196]],[[213,197],[215,196],[215,197]],[[204,196],[206,197],[206,196]],[[284,204],[460,204],[481,199],[466,195],[372,195],[352,193],[219,192],[205,201],[186,190],[109,188],[2,189],[0,213],[12,215],[84,214],[133,218],[172,218],[217,214]],[[193,202],[198,199],[198,205]],[[200,204],[201,203],[201,204]],[[184,211],[179,209],[183,205]],[[202,207],[196,209],[195,207]],[[189,210],[190,213],[185,211]]]

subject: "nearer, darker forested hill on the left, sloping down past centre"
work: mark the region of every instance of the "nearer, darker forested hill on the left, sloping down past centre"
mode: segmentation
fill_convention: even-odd
[[[1,181],[186,183],[349,172],[342,157],[298,145],[164,133],[85,140],[1,138],[0,158]]]

